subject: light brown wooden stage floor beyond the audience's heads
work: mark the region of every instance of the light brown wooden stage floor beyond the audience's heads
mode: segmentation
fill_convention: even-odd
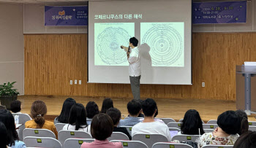
[[[30,114],[31,104],[36,100],[45,101],[48,106],[48,113],[45,117],[48,120],[53,120],[61,112],[62,104],[68,96],[18,96],[18,100],[22,102],[23,109],[21,112]],[[103,97],[86,97],[72,96],[75,101],[86,106],[89,101],[95,101],[99,106],[102,106]],[[128,115],[127,103],[132,98],[112,98],[113,105],[121,111],[125,116]],[[145,98],[142,98],[145,99]],[[217,117],[222,112],[227,110],[236,110],[236,102],[234,101],[217,101],[217,100],[199,100],[199,99],[173,99],[173,98],[154,98],[157,102],[159,113],[157,117],[171,117],[174,120],[183,119],[185,112],[188,109],[196,109],[200,113],[203,121],[217,120]],[[255,117],[250,116],[250,121],[256,121]]]

